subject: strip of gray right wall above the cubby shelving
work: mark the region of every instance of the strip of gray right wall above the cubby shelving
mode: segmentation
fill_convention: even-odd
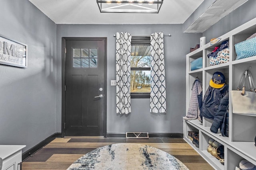
[[[248,0],[228,16],[222,18],[220,21],[212,25],[212,27],[204,31],[203,36],[206,37],[206,43],[210,42],[210,39],[218,38],[243,23],[256,18],[255,9],[256,0]]]

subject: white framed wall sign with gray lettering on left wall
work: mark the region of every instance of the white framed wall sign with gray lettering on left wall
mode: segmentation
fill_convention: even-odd
[[[28,67],[28,46],[0,35],[0,64]]]

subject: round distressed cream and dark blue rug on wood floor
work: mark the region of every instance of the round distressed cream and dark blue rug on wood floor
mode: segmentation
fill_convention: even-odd
[[[67,170],[188,170],[163,150],[136,143],[97,148],[76,160]]]

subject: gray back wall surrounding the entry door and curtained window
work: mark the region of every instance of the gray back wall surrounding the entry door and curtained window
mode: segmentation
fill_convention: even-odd
[[[156,31],[170,33],[164,37],[166,65],[167,113],[149,113],[149,99],[131,99],[132,113],[116,114],[116,32],[150,35]],[[182,116],[186,115],[186,54],[199,44],[202,33],[182,33],[177,25],[63,25],[57,24],[57,87],[61,87],[62,37],[107,37],[107,133],[146,131],[150,133],[182,133]],[[61,88],[57,89],[57,131],[61,131]]]

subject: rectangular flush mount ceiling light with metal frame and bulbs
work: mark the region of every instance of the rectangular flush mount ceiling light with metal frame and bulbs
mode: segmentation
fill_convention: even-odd
[[[164,0],[96,0],[100,12],[158,13]]]

